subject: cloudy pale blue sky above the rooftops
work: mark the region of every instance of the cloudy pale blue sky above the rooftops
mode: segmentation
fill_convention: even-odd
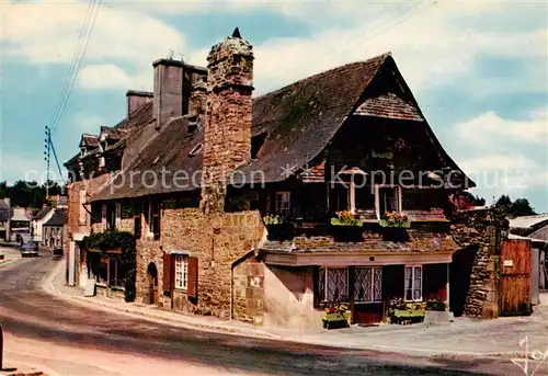
[[[0,0],[0,180],[39,180],[44,127],[61,163],[82,133],[126,114],[128,89],[152,90],[151,62],[205,66],[239,26],[254,47],[255,94],[390,52],[429,124],[488,203],[526,197],[548,212],[547,2],[106,1],[71,94],[88,1]],[[93,9],[93,8],[92,8]],[[69,76],[71,77],[71,76]],[[55,167],[55,166],[54,166]]]

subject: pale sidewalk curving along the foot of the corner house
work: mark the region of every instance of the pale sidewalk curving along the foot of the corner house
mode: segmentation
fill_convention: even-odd
[[[413,324],[363,328],[353,326],[339,330],[301,331],[273,327],[253,327],[239,321],[219,320],[214,317],[183,315],[153,306],[128,304],[106,297],[83,297],[83,290],[64,284],[64,263],[46,280],[44,289],[60,298],[117,314],[139,317],[174,327],[225,332],[238,335],[292,341],[324,346],[358,350],[385,350],[431,356],[522,356],[520,342],[528,338],[529,351],[547,351],[548,295],[544,305],[537,306],[530,317],[472,320],[457,318],[444,326]]]

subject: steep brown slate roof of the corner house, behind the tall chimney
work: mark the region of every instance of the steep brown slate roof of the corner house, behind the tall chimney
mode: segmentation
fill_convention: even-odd
[[[389,65],[389,69],[397,71],[390,54],[385,54],[330,69],[254,99],[252,136],[266,133],[266,137],[256,159],[237,170],[235,183],[243,180],[249,183],[252,182],[252,178],[265,183],[286,180],[288,169],[296,172],[322,152],[346,117],[353,114],[364,100],[363,111],[372,115],[381,114],[421,121],[441,158],[445,160],[445,163],[458,169],[426,122],[423,122],[423,115],[412,96],[404,101],[387,94],[377,95],[379,99],[376,101],[366,101],[366,89],[385,64]],[[383,111],[378,107],[380,102],[386,106]],[[148,103],[148,106],[151,106],[151,103]],[[189,157],[189,151],[197,143],[203,141],[204,129],[198,128],[190,135],[185,126],[186,122],[184,117],[176,119],[171,124],[162,125],[159,133],[151,134],[150,139],[147,139],[147,145],[134,155],[133,159],[138,161],[126,164],[125,171],[118,173],[114,183],[105,186],[91,201],[198,189],[201,183],[198,173],[179,187],[153,184],[155,178],[151,173],[147,174],[145,181],[138,179],[138,181],[129,182],[128,179],[132,170],[160,171],[162,166],[165,166],[168,171],[184,171],[185,175],[192,178],[193,173],[202,167],[202,153]],[[256,173],[258,171],[261,173]]]

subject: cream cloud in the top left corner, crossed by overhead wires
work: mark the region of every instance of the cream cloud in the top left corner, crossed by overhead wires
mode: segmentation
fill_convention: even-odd
[[[103,4],[85,58],[150,64],[170,49],[184,50],[184,36],[162,21],[130,7]],[[85,20],[84,2],[9,2],[4,4],[4,56],[32,64],[69,64]]]

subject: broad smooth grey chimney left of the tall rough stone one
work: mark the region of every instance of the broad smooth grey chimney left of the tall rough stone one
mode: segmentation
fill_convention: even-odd
[[[153,117],[159,128],[169,118],[183,115],[183,67],[179,60],[159,59],[155,68]]]

